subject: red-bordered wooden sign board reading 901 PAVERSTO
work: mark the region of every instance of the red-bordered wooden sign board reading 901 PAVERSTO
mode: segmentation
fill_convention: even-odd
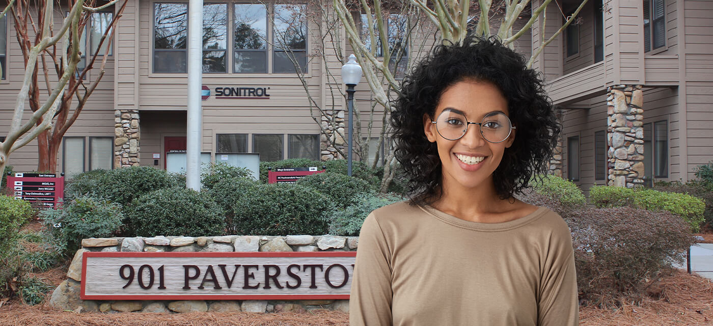
[[[83,253],[82,300],[349,299],[356,252]]]

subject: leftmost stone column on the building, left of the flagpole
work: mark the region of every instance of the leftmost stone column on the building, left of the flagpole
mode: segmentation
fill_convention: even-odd
[[[114,168],[139,165],[138,110],[115,110],[114,117]]]

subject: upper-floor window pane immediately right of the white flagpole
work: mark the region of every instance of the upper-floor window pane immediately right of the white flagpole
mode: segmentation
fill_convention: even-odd
[[[203,72],[227,73],[227,4],[203,5]]]

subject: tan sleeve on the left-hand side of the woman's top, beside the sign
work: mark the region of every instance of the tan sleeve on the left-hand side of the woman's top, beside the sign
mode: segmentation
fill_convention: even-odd
[[[356,250],[349,325],[391,325],[391,254],[374,213],[364,220]]]

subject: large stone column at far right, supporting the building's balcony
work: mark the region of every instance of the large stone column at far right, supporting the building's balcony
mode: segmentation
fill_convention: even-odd
[[[644,183],[644,97],[641,85],[617,85],[607,91],[607,184],[634,188]]]

